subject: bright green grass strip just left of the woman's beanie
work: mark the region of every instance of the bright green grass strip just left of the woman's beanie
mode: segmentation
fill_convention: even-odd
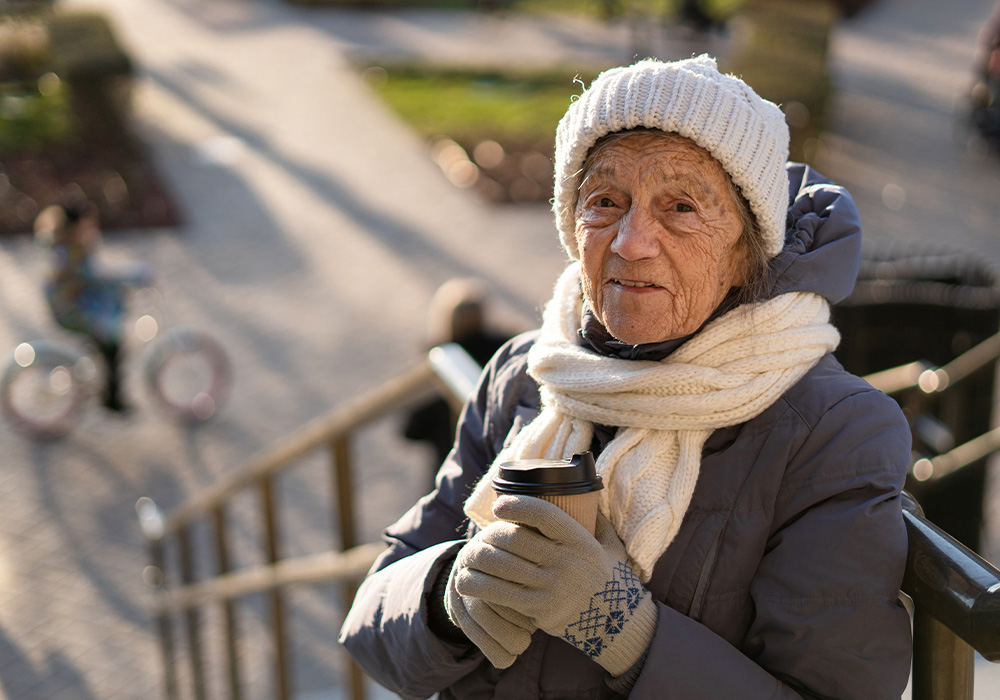
[[[387,104],[424,136],[456,141],[551,144],[556,125],[582,91],[573,74],[500,74],[467,69],[369,69]],[[586,83],[595,77],[580,76]]]

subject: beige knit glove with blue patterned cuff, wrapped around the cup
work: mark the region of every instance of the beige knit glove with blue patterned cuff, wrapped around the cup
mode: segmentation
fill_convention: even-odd
[[[531,496],[501,496],[493,514],[509,522],[470,541],[455,576],[458,593],[521,613],[612,676],[629,670],[649,647],[658,612],[611,523],[598,515],[592,537]]]

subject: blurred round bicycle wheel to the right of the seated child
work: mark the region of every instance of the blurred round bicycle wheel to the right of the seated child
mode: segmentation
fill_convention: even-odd
[[[229,393],[229,358],[212,337],[188,326],[169,329],[153,343],[144,365],[146,385],[175,418],[206,421]]]

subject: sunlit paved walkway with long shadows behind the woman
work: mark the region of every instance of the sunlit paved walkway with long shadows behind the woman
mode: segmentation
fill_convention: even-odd
[[[952,139],[972,37],[990,4],[881,0],[838,32],[826,170],[854,193],[872,236],[947,238],[1000,260],[1000,165]],[[563,264],[544,207],[494,209],[454,189],[348,58],[388,51],[592,66],[726,44],[643,25],[279,0],[64,5],[106,10],[137,59],[136,117],[185,215],[177,230],[109,236],[109,252],[156,267],[168,315],[218,335],[237,379],[225,412],[198,430],[164,423],[134,383],[134,416],[94,411],[61,442],[32,444],[0,426],[0,698],[148,698],[160,671],[136,499],[169,509],[407,364],[444,280],[485,279],[497,320],[516,329],[535,323]],[[902,206],[898,193],[883,198],[889,183],[904,192]],[[35,291],[37,265],[28,240],[0,241],[0,347],[55,333]],[[366,538],[423,484],[425,455],[392,440],[395,431],[380,426],[358,448]],[[296,504],[288,554],[328,546],[312,489],[322,466],[304,465],[282,491]],[[249,547],[254,528],[238,527]],[[303,700],[329,697],[339,672],[331,600],[323,591],[295,600]],[[244,621],[250,697],[269,697],[265,614],[252,605]],[[981,681],[977,698],[997,688]]]

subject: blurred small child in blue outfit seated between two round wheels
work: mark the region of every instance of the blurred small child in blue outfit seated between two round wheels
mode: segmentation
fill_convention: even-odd
[[[47,253],[44,292],[53,318],[99,349],[107,369],[104,406],[127,412],[121,395],[126,301],[130,290],[152,286],[152,271],[140,263],[102,263],[97,207],[81,195],[43,209],[34,230]]]

